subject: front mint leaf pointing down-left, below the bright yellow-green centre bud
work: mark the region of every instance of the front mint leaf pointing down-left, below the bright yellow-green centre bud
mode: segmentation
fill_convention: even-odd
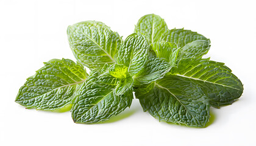
[[[98,71],[91,72],[87,81],[77,90],[71,114],[76,123],[96,123],[116,116],[131,105],[133,94],[130,89],[117,95],[115,85],[98,82]]]

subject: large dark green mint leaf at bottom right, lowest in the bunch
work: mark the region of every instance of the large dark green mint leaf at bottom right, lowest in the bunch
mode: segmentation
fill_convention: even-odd
[[[144,111],[160,121],[205,127],[210,117],[210,105],[201,88],[174,75],[157,80],[148,92],[135,89],[135,96]]]

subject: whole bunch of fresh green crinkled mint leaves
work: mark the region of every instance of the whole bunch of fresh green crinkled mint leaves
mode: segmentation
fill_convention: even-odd
[[[130,107],[135,92],[156,119],[205,127],[210,106],[230,105],[243,93],[243,84],[224,63],[202,58],[210,49],[208,38],[169,30],[158,15],[141,17],[125,40],[98,21],[74,24],[67,33],[77,63],[44,63],[15,102],[46,111],[71,109],[74,122],[96,123]]]

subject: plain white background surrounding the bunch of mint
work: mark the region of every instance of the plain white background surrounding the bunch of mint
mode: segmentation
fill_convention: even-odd
[[[0,1],[0,145],[256,145],[254,1]],[[168,28],[210,38],[206,57],[226,63],[244,84],[243,96],[211,108],[207,128],[158,122],[138,100],[107,123],[76,124],[71,114],[25,109],[18,89],[52,58],[75,60],[66,28],[102,21],[126,38],[138,19],[155,13]]]

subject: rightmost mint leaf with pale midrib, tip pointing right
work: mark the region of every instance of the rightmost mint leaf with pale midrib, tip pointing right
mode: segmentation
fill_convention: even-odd
[[[209,58],[182,59],[177,67],[171,69],[171,74],[200,85],[210,105],[216,108],[230,105],[243,93],[243,84],[232,71],[224,63],[210,61]]]

